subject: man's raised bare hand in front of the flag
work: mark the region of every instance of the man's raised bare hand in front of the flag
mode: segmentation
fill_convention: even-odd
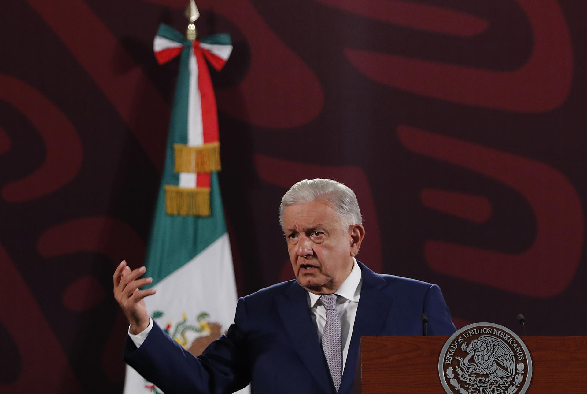
[[[146,268],[139,267],[131,271],[126,261],[120,262],[112,280],[114,282],[114,298],[122,308],[130,323],[130,334],[139,334],[149,326],[149,314],[144,298],[155,294],[155,289],[139,290],[153,282],[153,278],[139,278]]]

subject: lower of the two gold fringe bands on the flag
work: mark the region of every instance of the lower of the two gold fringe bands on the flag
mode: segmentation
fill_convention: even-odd
[[[165,210],[168,215],[210,216],[210,188],[166,185]]]

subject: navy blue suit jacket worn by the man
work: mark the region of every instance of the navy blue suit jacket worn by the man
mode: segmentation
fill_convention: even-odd
[[[350,394],[361,336],[456,331],[437,285],[380,275],[359,262],[363,285],[340,394]],[[127,338],[124,361],[166,394],[231,393],[252,382],[254,394],[335,394],[312,323],[307,291],[293,281],[240,298],[234,324],[195,358],[155,324],[143,345]]]

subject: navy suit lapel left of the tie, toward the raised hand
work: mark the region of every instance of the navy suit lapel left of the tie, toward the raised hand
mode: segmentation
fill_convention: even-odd
[[[361,296],[362,297],[362,296]],[[322,348],[318,342],[316,329],[308,309],[306,290],[296,282],[278,299],[278,311],[284,322],[285,330],[294,344],[303,363],[324,393],[332,393],[330,376]]]

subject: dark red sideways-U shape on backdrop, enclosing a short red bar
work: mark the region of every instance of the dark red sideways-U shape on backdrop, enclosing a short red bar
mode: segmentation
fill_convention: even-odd
[[[581,200],[563,174],[535,160],[409,126],[399,126],[397,134],[411,151],[514,188],[536,218],[536,239],[519,254],[427,241],[424,254],[434,270],[531,297],[552,297],[568,287],[583,252],[584,218]]]

